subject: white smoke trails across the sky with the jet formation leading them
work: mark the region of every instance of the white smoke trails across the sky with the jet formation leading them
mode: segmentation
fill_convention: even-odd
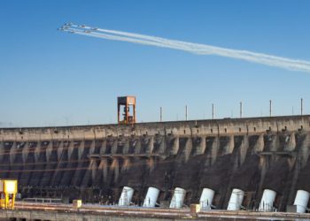
[[[221,57],[231,57],[262,65],[276,66],[292,71],[310,72],[310,62],[308,61],[291,59],[286,57],[276,57],[262,53],[255,53],[248,50],[231,50],[215,47],[212,45],[181,42],[150,35],[121,32],[96,27],[68,25],[62,27],[61,30],[74,34],[83,34],[98,38],[104,38],[107,40],[133,42],[174,50],[184,50],[198,55],[216,55]]]

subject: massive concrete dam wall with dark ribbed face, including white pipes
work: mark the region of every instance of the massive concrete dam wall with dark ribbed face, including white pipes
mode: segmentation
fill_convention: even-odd
[[[0,178],[28,199],[305,212],[309,150],[308,115],[1,128]]]

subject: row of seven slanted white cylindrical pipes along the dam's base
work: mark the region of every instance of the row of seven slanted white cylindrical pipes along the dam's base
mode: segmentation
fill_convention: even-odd
[[[155,207],[159,198],[160,190],[156,187],[149,187],[147,194],[145,195],[143,207]],[[134,189],[131,187],[123,187],[120,194],[119,206],[129,206],[134,194]],[[170,202],[169,208],[180,209],[183,206],[186,190],[180,187],[174,189],[174,195]],[[214,197],[214,190],[210,188],[204,188],[200,196],[199,204],[203,210],[211,210],[213,208],[212,202]],[[261,197],[259,211],[273,211],[275,202],[275,191],[271,189],[265,189]],[[309,202],[310,193],[305,190],[298,190],[294,204],[298,213],[305,213],[307,204]],[[244,191],[234,188],[230,195],[229,205],[227,210],[241,210],[242,203],[244,201]]]

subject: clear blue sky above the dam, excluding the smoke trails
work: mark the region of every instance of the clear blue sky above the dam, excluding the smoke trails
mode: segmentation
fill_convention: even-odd
[[[310,61],[310,1],[0,1],[0,127],[310,113],[310,73],[66,34],[66,22]]]

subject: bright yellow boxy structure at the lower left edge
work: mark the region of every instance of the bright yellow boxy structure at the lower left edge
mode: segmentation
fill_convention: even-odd
[[[0,179],[0,208],[14,209],[17,180]]]

